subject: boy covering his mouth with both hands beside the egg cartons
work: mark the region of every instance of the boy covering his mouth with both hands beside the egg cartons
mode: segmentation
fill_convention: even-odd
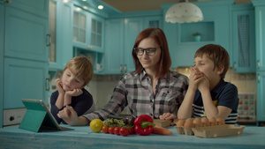
[[[208,44],[196,51],[178,119],[207,116],[223,118],[227,124],[237,123],[238,88],[223,80],[229,66],[229,55],[220,45]]]

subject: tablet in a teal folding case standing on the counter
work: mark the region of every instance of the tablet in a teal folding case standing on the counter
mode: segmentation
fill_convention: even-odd
[[[72,130],[61,127],[42,100],[22,99],[27,112],[19,125],[20,129],[34,132],[46,130]]]

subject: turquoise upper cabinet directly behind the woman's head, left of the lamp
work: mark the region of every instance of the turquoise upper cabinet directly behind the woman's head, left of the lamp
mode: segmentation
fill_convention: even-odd
[[[162,16],[126,17],[106,20],[105,74],[135,71],[133,46],[136,37],[148,27],[162,28]],[[113,58],[115,57],[115,58]]]

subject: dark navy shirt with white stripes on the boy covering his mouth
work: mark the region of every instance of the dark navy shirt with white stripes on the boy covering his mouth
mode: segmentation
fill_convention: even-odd
[[[232,109],[231,114],[226,118],[225,123],[237,123],[239,106],[239,93],[237,86],[221,79],[217,86],[210,91],[210,94],[216,106],[224,106]],[[195,93],[193,110],[194,117],[206,116],[204,115],[203,102],[201,92],[199,90]]]

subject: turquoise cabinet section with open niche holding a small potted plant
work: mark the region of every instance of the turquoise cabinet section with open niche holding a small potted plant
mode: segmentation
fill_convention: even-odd
[[[233,0],[194,3],[201,8],[204,19],[195,23],[163,23],[167,37],[171,67],[193,66],[198,48],[213,43],[225,48],[232,57],[231,49],[231,5]],[[163,4],[163,17],[172,4]],[[194,33],[201,34],[201,41],[193,41]],[[232,62],[232,61],[231,61]]]

